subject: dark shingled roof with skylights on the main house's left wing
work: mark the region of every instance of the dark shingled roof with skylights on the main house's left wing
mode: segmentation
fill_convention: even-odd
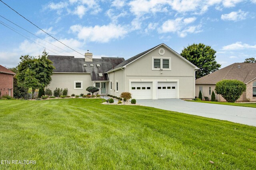
[[[124,58],[102,57],[101,59],[92,59],[92,62],[84,61],[84,58],[75,58],[74,56],[48,55],[48,59],[53,62],[55,69],[53,72],[66,73],[90,73],[92,81],[106,81],[108,75],[104,74],[114,65],[124,61]],[[87,64],[87,66],[84,66]],[[93,64],[93,67],[90,66]],[[96,64],[100,64],[97,67]],[[102,77],[99,76],[102,73]]]

